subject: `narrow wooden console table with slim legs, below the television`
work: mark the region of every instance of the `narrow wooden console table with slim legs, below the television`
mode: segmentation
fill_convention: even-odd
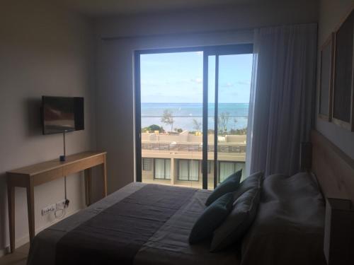
[[[15,250],[15,187],[25,187],[27,189],[28,227],[30,242],[32,242],[35,237],[34,187],[84,170],[86,204],[90,205],[91,168],[96,165],[102,165],[103,196],[107,196],[106,152],[87,151],[76,153],[67,155],[64,162],[60,162],[58,158],[6,172],[11,252]]]

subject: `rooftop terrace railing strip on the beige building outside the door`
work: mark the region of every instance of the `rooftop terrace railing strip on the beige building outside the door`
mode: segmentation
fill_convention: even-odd
[[[202,152],[202,145],[193,143],[142,143],[142,149],[156,151]],[[207,151],[214,152],[214,145],[208,145]],[[217,151],[219,153],[246,153],[246,146],[227,146],[223,144],[217,146]]]

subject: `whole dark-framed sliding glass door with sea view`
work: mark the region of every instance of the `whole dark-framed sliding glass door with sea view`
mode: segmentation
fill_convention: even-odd
[[[136,179],[214,189],[245,167],[252,45],[135,53]]]

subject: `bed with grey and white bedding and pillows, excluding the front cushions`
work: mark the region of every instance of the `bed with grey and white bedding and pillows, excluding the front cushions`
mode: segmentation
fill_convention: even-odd
[[[210,191],[131,183],[40,232],[28,264],[324,264],[324,200],[312,176],[269,176],[263,187],[244,240],[221,252],[210,240],[188,243]]]

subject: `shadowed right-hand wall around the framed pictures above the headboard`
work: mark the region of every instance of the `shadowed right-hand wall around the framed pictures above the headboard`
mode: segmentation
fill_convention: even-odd
[[[319,8],[319,47],[323,45],[353,6],[353,0],[321,0]],[[319,76],[319,67],[317,67],[317,73],[317,76]],[[317,83],[319,83],[319,78],[317,78]],[[319,118],[316,119],[316,129],[354,159],[354,132],[342,129],[333,123],[325,122]]]

